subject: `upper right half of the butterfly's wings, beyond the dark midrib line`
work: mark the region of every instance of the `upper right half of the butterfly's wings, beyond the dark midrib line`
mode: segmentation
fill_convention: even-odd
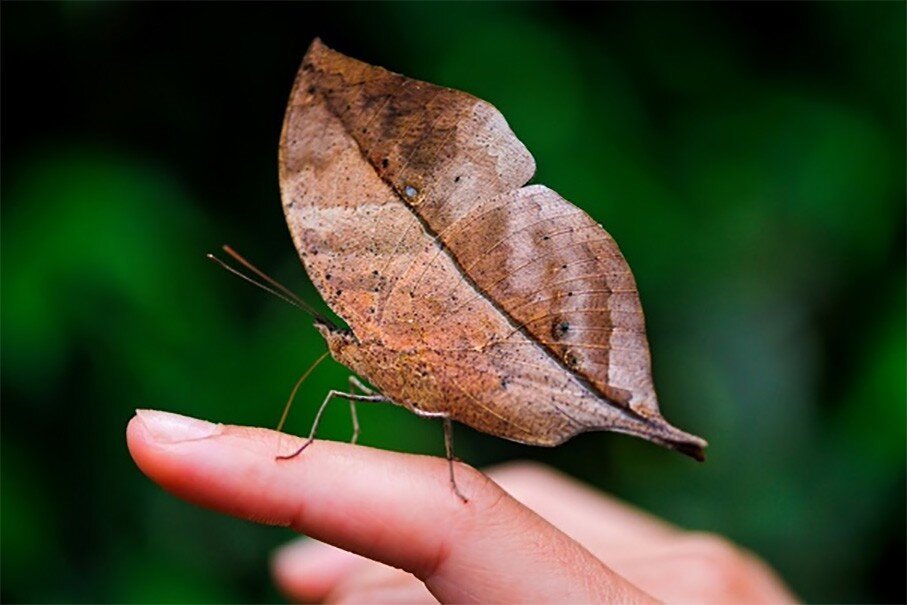
[[[519,331],[613,403],[657,412],[626,261],[583,211],[547,188],[520,189],[535,164],[500,112],[318,42],[302,72],[307,90],[340,120],[375,173],[450,250],[459,281],[474,282]],[[434,280],[425,270],[419,275],[432,289],[418,295],[432,297]],[[450,321],[457,320],[439,323]]]

